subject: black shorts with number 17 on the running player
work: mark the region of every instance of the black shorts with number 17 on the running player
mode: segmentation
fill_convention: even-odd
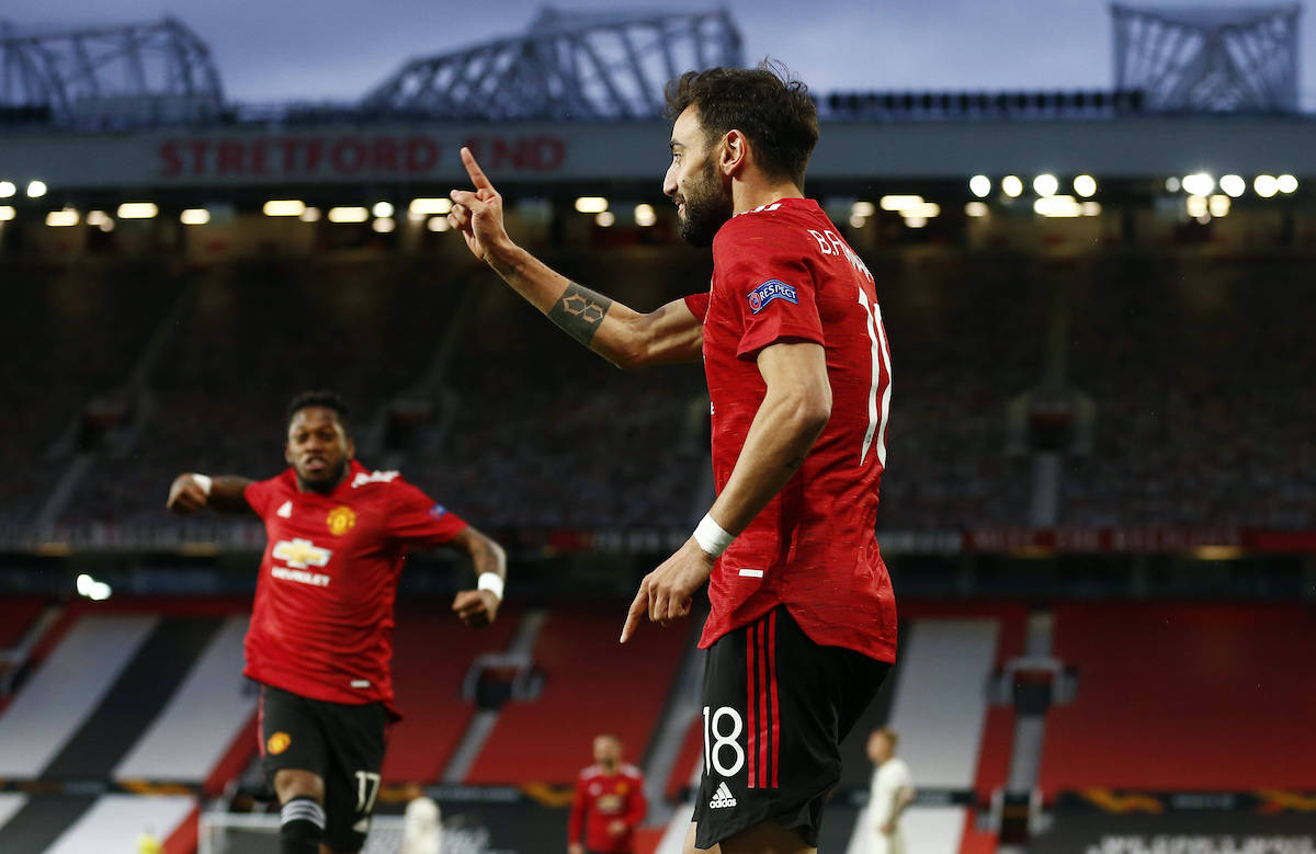
[[[261,686],[261,767],[270,786],[283,768],[325,783],[324,843],[359,851],[370,832],[384,763],[388,712],[383,703],[328,703]]]

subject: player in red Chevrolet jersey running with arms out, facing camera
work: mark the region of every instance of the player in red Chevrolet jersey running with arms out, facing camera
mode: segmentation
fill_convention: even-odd
[[[347,408],[332,392],[288,407],[288,468],[270,480],[179,475],[167,505],[255,513],[267,545],[246,636],[245,674],[261,684],[261,758],[282,805],[282,854],[359,851],[379,793],[392,708],[393,599],[411,546],[471,555],[475,590],[453,611],[496,616],[503,549],[396,471],[355,461]]]

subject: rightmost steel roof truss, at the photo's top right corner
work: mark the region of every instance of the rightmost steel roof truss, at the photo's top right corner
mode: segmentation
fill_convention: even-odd
[[[1296,112],[1300,5],[1111,7],[1115,86],[1163,112]]]

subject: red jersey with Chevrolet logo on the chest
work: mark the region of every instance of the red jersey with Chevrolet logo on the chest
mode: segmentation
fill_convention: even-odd
[[[246,636],[246,675],[332,703],[392,708],[393,596],[408,546],[451,540],[466,522],[396,471],[353,461],[329,495],[300,492],[292,468],[251,483],[265,557]]]

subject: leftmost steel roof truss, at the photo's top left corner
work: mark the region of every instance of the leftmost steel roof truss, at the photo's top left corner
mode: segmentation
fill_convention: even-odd
[[[170,17],[42,34],[3,28],[0,105],[104,128],[211,118],[224,89],[209,47]]]

